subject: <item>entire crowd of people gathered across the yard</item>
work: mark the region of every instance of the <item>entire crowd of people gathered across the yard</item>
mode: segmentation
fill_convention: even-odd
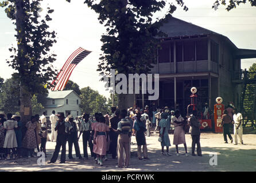
[[[231,114],[229,114],[231,112]],[[44,152],[46,155],[46,142],[48,141],[48,129],[45,113],[40,117],[38,114],[31,117],[26,124],[21,122],[21,117],[0,112],[0,158],[11,160],[20,157],[34,157],[37,152]],[[188,116],[187,116],[188,117]],[[185,133],[191,133],[192,156],[195,154],[197,146],[197,156],[202,156],[200,146],[200,122],[197,119],[197,111],[193,110],[191,116],[182,117],[180,111],[169,110],[166,106],[162,109],[145,106],[145,109],[129,108],[119,110],[112,108],[112,114],[103,115],[95,113],[94,116],[83,113],[79,119],[71,114],[55,114],[52,111],[51,120],[51,141],[56,142],[55,151],[48,164],[55,163],[61,149],[60,163],[66,161],[66,144],[68,142],[68,158],[73,160],[72,147],[75,147],[76,157],[80,160],[88,160],[87,145],[89,146],[91,157],[95,163],[103,165],[107,160],[107,155],[111,154],[113,159],[118,160],[117,168],[127,168],[130,165],[131,136],[135,136],[137,142],[138,160],[150,160],[146,143],[146,136],[150,136],[150,129],[157,134],[161,144],[162,156],[171,156],[169,147],[171,146],[169,133],[173,131],[172,144],[176,146],[176,156],[179,154],[179,145],[183,144],[185,156],[189,156]],[[234,134],[237,144],[237,134],[242,141],[242,115],[236,109],[226,109],[222,116],[222,126],[224,128],[224,142],[227,143],[227,135],[233,142],[230,134],[231,122],[235,125]],[[78,134],[79,133],[79,134]],[[83,140],[83,157],[79,148],[80,136]],[[40,146],[40,147],[39,147]],[[165,152],[166,148],[166,152]]]

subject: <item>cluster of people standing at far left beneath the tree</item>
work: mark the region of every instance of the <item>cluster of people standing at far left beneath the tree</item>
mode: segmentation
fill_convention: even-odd
[[[5,118],[7,117],[7,119]],[[46,154],[46,118],[36,114],[24,124],[21,117],[0,112],[0,158],[11,160],[21,157],[34,157],[38,152]],[[41,145],[41,146],[40,146]],[[40,146],[40,148],[39,148]]]

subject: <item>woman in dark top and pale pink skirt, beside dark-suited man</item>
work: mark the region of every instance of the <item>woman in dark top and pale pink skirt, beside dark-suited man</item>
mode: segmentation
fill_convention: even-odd
[[[176,153],[177,156],[180,156],[179,154],[179,144],[184,144],[186,156],[188,156],[187,151],[187,144],[185,140],[185,132],[183,130],[184,126],[184,118],[181,117],[180,111],[177,109],[174,113],[174,117],[172,118],[172,123],[174,125],[174,134],[173,134],[173,144],[176,146]]]

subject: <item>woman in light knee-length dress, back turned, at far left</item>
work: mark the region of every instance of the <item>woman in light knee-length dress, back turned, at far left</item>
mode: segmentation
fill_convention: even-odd
[[[7,149],[6,160],[10,160],[11,150],[13,152],[13,158],[14,159],[17,158],[16,148],[18,147],[18,144],[17,144],[14,128],[18,128],[18,122],[11,120],[12,116],[13,114],[11,113],[7,114],[7,121],[3,123],[3,126],[6,129],[5,144],[3,145],[3,148]]]

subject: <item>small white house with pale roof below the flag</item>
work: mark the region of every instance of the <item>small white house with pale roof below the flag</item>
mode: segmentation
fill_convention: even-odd
[[[67,116],[67,113],[70,113],[73,117],[77,117],[81,115],[80,103],[79,95],[73,90],[49,91],[44,112],[46,116],[51,115],[55,110],[56,114],[64,113]]]

